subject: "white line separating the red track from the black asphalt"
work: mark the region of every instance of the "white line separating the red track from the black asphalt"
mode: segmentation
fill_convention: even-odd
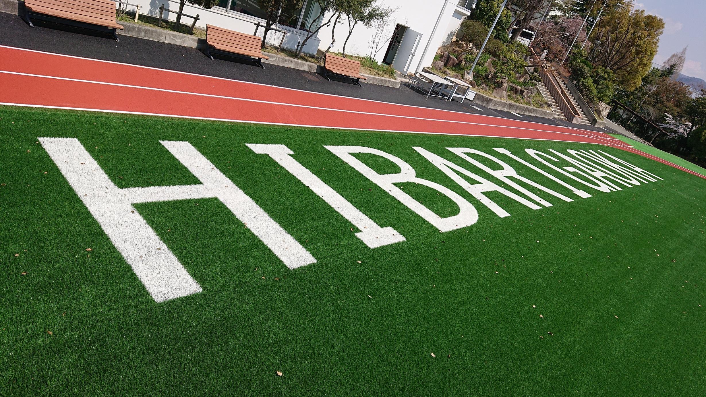
[[[326,96],[330,96],[330,97],[345,98],[345,99],[348,99],[348,100],[362,100],[362,101],[367,101],[367,102],[384,103],[384,104],[386,104],[386,105],[396,105],[396,106],[403,106],[403,107],[412,107],[412,108],[415,108],[415,109],[436,110],[436,111],[439,111],[439,112],[449,112],[449,113],[465,114],[465,115],[468,115],[468,114],[469,114],[469,113],[466,113],[466,112],[458,112],[457,110],[436,109],[436,108],[433,108],[433,107],[423,107],[423,106],[416,106],[416,105],[404,105],[404,104],[401,104],[401,103],[385,102],[385,101],[381,101],[381,100],[369,100],[369,99],[358,98],[358,97],[347,97],[347,96],[344,96],[344,95],[327,94],[327,93],[316,93],[316,92],[314,92],[314,91],[299,90],[298,88],[288,88],[288,87],[280,87],[280,86],[271,85],[271,84],[253,83],[253,82],[251,82],[251,81],[242,81],[242,80],[235,80],[235,79],[232,79],[232,78],[223,78],[223,77],[217,77],[217,76],[208,76],[208,75],[205,75],[205,74],[189,73],[189,72],[186,72],[186,71],[174,71],[174,70],[169,70],[169,69],[155,68],[155,67],[152,67],[152,66],[142,66],[142,65],[136,65],[136,64],[125,64],[125,63],[123,63],[123,62],[106,61],[106,60],[103,60],[103,59],[92,59],[92,58],[86,58],[86,57],[77,57],[76,55],[57,54],[56,52],[38,51],[38,50],[36,50],[36,49],[27,49],[27,48],[20,48],[20,47],[11,47],[11,46],[7,46],[7,45],[0,45],[0,48],[15,49],[15,50],[18,50],[18,51],[36,52],[37,54],[49,54],[49,55],[54,55],[54,56],[56,56],[56,57],[67,57],[67,58],[73,58],[73,59],[83,59],[83,60],[86,60],[86,61],[102,62],[102,63],[106,63],[106,64],[116,64],[116,65],[121,65],[121,66],[133,66],[133,67],[136,67],[136,68],[150,69],[150,70],[155,70],[155,71],[163,71],[163,72],[167,72],[167,73],[179,73],[179,74],[184,74],[184,75],[187,75],[187,76],[197,76],[197,77],[201,77],[201,78],[215,78],[215,79],[217,79],[217,80],[231,81],[231,82],[243,83],[243,84],[262,85],[262,86],[264,86],[264,87],[278,88],[278,89],[282,89],[282,90],[292,90],[292,91],[298,91],[298,92],[300,92],[300,93],[307,93],[307,94],[312,94],[312,95],[326,95]],[[489,115],[489,114],[474,114],[474,115],[477,116],[477,117],[491,117],[491,118],[493,118],[493,119],[508,120],[508,119],[505,118],[505,117],[491,116],[491,115]],[[522,123],[528,123],[528,124],[539,124],[539,125],[542,125],[542,126],[546,126],[546,124],[542,124],[542,123],[538,123],[538,122],[528,122],[528,121],[525,121],[525,120],[515,120],[515,121],[519,121],[519,122],[522,122]],[[479,125],[493,125],[493,124],[479,124]],[[573,130],[576,130],[576,131],[591,132],[591,131],[589,131],[589,130],[575,129],[575,128],[569,127],[569,126],[561,126],[561,127],[567,128],[567,129],[573,129]],[[520,127],[516,127],[516,128],[520,128]],[[534,130],[534,129],[532,129],[532,131],[542,131],[542,130]],[[552,132],[552,131],[550,131],[550,132]],[[604,139],[612,139],[612,140],[619,141],[618,139],[615,139],[615,138],[613,138],[613,137],[606,137],[606,138],[604,138]]]

